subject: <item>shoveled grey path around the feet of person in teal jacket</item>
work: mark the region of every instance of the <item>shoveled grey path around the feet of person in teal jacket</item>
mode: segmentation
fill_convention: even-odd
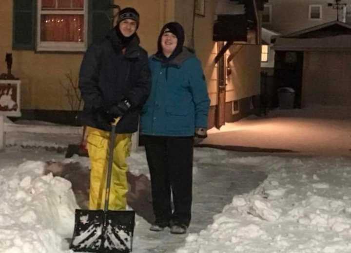
[[[193,182],[193,217],[189,233],[199,233],[213,223],[213,216],[222,212],[233,196],[257,188],[267,175],[253,167],[229,168],[225,164],[196,163]],[[149,210],[145,210],[148,212]],[[138,212],[137,212],[138,214]],[[139,214],[138,214],[139,215]],[[150,224],[137,217],[134,253],[174,253],[185,244],[187,235],[149,231]]]

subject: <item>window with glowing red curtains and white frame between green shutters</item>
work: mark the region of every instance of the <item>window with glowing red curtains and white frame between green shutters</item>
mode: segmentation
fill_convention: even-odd
[[[88,0],[38,0],[37,51],[85,51]]]

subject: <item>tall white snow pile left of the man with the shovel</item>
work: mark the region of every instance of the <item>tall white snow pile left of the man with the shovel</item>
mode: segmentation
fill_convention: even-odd
[[[78,206],[71,182],[43,176],[45,165],[27,161],[0,170],[1,253],[64,252]]]

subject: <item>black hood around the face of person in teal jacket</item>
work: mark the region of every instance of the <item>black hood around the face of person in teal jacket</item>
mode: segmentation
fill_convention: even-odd
[[[169,57],[169,59],[173,59],[174,57],[176,57],[178,54],[180,54],[183,50],[183,46],[184,46],[184,29],[181,26],[181,24],[177,23],[177,22],[169,22],[167,24],[165,24],[163,26],[163,28],[161,29],[161,32],[158,36],[158,40],[157,40],[157,55],[163,55],[163,51],[162,51],[162,45],[161,45],[161,38],[162,35],[164,33],[172,33],[174,34],[178,41],[177,41],[177,45],[175,48],[175,51],[173,51],[173,53],[171,54],[171,56]]]

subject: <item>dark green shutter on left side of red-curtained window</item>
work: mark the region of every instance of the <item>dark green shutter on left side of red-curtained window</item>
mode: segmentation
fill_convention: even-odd
[[[13,1],[12,48],[34,50],[36,0]]]

